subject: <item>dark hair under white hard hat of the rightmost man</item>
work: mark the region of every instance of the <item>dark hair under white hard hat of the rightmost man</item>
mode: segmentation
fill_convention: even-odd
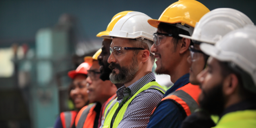
[[[256,98],[256,94],[254,94],[252,91],[245,88],[245,86],[244,86],[244,84],[253,84],[254,85],[254,82],[253,82],[251,76],[247,72],[243,71],[238,66],[235,66],[235,68],[233,68],[233,66],[231,66],[231,62],[219,61],[219,65],[221,68],[221,75],[223,78],[225,78],[229,74],[236,75],[236,77],[238,78],[239,95],[242,98],[252,98],[252,97]]]

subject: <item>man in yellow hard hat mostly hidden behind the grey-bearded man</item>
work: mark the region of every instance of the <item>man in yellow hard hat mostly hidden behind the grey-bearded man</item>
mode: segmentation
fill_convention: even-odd
[[[107,30],[106,31],[102,31],[100,33],[98,33],[96,36],[97,37],[101,37],[102,35],[108,35],[110,31],[112,31],[113,27],[115,26],[116,22],[122,18],[123,16],[125,16],[128,12],[132,12],[132,11],[123,11],[123,12],[119,12],[117,13],[110,21],[110,23],[107,26]],[[108,61],[108,57],[110,55],[109,52],[109,47],[111,44],[112,40],[111,39],[103,39],[102,41],[102,47],[101,50],[102,52],[99,54],[98,56],[98,61],[99,61],[99,65],[100,65],[100,79],[103,81],[109,80],[109,75],[112,72],[112,70],[108,67],[109,63]],[[124,84],[115,84],[117,89],[119,89],[120,87],[122,87]],[[101,111],[101,120],[102,121],[104,118],[104,113],[105,113],[105,109],[107,108],[107,106],[116,98],[116,93],[110,97],[103,105],[102,105],[102,111]],[[101,122],[99,122],[99,126],[100,127]]]

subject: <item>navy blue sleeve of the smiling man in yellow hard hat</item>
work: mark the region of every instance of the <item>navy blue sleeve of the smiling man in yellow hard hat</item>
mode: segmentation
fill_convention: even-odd
[[[184,119],[180,108],[173,101],[165,100],[154,111],[147,128],[179,128]]]

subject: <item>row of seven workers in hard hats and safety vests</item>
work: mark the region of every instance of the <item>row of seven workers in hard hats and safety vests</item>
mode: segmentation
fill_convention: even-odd
[[[69,72],[79,112],[55,128],[256,126],[256,27],[242,12],[179,0],[158,20],[120,12],[97,37],[102,48]],[[167,91],[154,62],[171,76]]]

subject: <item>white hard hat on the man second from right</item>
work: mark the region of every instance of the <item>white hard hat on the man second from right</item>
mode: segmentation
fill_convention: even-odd
[[[253,26],[253,22],[244,13],[232,8],[217,8],[205,14],[197,23],[192,36],[181,35],[199,42],[215,44],[227,33]]]

